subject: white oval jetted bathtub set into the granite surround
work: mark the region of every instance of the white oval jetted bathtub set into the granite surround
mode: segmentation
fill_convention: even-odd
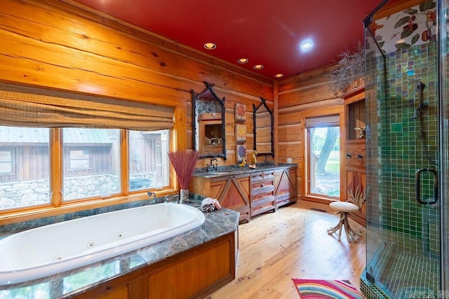
[[[204,222],[185,204],[152,204],[19,232],[0,240],[0,286],[119,256]]]

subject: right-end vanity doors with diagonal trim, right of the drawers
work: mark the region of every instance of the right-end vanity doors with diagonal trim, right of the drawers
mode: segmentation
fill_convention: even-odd
[[[276,208],[297,201],[297,167],[274,169]]]

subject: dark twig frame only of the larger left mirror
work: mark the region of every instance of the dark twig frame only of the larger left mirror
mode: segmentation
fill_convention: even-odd
[[[215,92],[213,91],[213,86],[215,84],[210,84],[204,81],[204,84],[206,85],[206,88],[199,93],[194,92],[194,90],[190,90],[192,93],[192,148],[194,150],[198,151],[200,153],[199,158],[223,158],[226,160],[226,123],[225,123],[225,97],[220,99]],[[202,101],[201,97],[206,94],[206,92],[210,92],[210,95],[212,95],[213,99],[220,104],[221,107],[221,123],[222,123],[222,152],[216,153],[216,154],[201,154],[201,149],[199,148],[199,144],[196,144],[196,134],[199,132],[196,132],[199,128],[196,127],[196,123],[198,122],[198,116],[196,115],[196,106],[198,101]],[[199,137],[201,138],[201,137]]]

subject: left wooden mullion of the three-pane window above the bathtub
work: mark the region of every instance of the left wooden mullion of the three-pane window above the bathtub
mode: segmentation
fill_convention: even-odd
[[[62,204],[62,130],[50,129],[50,188],[51,204],[60,207]]]

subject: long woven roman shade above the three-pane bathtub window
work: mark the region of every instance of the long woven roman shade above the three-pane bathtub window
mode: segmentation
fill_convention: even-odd
[[[172,107],[0,83],[0,125],[162,130]]]

